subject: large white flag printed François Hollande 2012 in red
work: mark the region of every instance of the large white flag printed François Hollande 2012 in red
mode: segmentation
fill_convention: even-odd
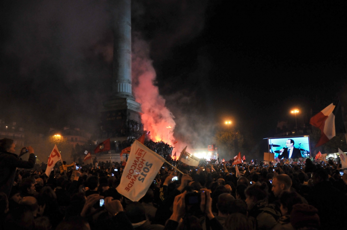
[[[118,193],[131,201],[139,201],[146,194],[164,162],[163,157],[135,140],[131,146],[120,184],[116,188]]]

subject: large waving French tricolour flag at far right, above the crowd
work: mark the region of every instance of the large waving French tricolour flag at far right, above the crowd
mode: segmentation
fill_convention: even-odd
[[[327,143],[337,133],[346,133],[340,101],[331,103],[325,109],[314,115],[310,120],[310,124],[319,128],[322,132],[321,138],[315,147]]]

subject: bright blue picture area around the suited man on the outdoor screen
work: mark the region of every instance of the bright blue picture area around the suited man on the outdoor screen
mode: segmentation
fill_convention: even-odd
[[[294,140],[294,148],[298,148],[300,150],[302,157],[311,157],[309,136],[268,138],[269,153],[274,153],[275,157],[277,157],[280,154],[281,149],[287,147],[286,142],[288,139]]]

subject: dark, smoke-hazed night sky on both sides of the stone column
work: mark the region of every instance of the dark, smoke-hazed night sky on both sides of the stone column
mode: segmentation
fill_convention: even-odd
[[[95,131],[111,93],[108,7],[2,1],[0,119]],[[294,107],[308,122],[337,96],[346,104],[346,12],[343,0],[133,0],[132,36],[148,48],[177,138],[208,145],[231,119],[258,142],[295,122]]]

